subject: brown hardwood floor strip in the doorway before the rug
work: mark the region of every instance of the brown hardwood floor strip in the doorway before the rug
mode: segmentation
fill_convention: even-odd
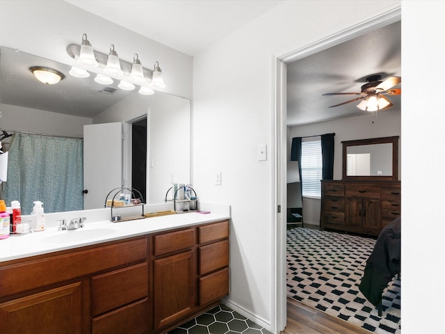
[[[370,332],[288,298],[287,326],[282,334],[370,334]]]

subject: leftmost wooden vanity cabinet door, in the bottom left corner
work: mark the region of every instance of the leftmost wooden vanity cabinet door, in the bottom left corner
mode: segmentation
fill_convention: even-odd
[[[81,283],[0,304],[3,334],[81,333]]]

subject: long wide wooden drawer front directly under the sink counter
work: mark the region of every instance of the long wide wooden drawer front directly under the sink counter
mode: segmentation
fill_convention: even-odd
[[[52,255],[0,268],[0,297],[147,260],[147,239]]]

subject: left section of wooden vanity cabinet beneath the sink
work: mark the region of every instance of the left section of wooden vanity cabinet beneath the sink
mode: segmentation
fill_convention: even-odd
[[[148,333],[147,255],[143,237],[0,264],[1,333]]]

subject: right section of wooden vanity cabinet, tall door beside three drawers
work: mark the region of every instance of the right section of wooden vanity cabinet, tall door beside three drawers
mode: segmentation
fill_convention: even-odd
[[[229,294],[229,221],[152,236],[153,331],[165,333]]]

